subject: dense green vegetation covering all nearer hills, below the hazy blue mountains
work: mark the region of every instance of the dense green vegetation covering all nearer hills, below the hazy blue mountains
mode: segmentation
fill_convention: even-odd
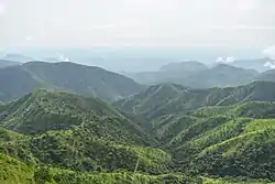
[[[274,90],[165,84],[118,108],[34,90],[0,104],[0,183],[272,183]]]

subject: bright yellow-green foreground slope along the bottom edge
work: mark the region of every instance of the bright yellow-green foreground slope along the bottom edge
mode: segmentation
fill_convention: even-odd
[[[189,177],[179,173],[148,175],[133,172],[87,173],[47,166],[34,166],[0,153],[1,184],[272,184],[267,180]],[[274,184],[274,183],[273,183]]]

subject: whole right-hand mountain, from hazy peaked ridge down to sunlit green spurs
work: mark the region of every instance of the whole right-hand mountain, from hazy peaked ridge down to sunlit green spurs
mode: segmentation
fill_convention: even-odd
[[[165,84],[116,105],[144,121],[178,172],[274,181],[274,90],[271,82],[199,90]]]

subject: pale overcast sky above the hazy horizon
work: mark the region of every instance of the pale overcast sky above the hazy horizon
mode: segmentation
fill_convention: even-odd
[[[275,0],[0,0],[0,48],[275,45]]]

